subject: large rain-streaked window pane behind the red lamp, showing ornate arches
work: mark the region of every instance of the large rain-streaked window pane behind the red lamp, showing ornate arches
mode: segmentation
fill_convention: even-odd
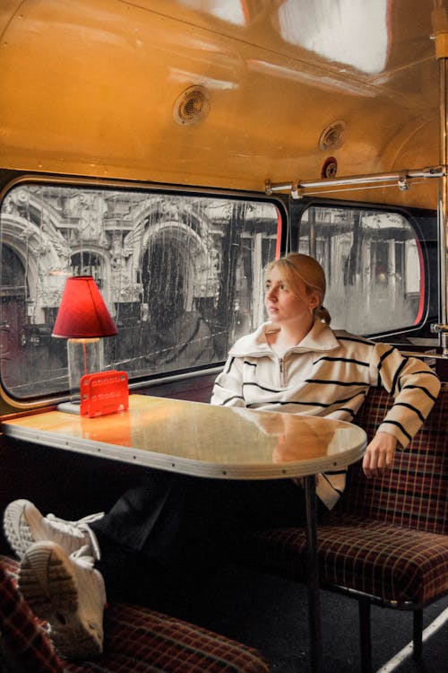
[[[92,275],[116,321],[105,366],[130,378],[222,362],[263,320],[268,202],[21,184],[0,210],[1,375],[24,398],[67,390],[51,337],[67,275]]]

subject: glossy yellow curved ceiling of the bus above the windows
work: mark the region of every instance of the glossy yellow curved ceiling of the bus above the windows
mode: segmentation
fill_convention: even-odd
[[[329,155],[340,175],[435,164],[445,4],[2,0],[0,167],[263,191]],[[210,112],[178,124],[196,85]]]

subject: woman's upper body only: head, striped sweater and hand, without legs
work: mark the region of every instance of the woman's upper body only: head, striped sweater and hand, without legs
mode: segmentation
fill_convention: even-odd
[[[397,442],[407,446],[432,408],[440,389],[435,374],[392,345],[329,328],[325,276],[314,258],[280,258],[267,267],[264,283],[270,321],[230,349],[211,403],[352,421],[369,386],[383,385],[395,404],[363,461],[367,477],[382,474]],[[317,494],[331,509],[344,485],[344,476],[327,476]]]

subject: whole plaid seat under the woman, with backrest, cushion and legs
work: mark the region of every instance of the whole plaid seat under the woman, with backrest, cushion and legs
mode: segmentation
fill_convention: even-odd
[[[391,405],[392,397],[383,389],[369,391],[355,419],[368,441]],[[391,473],[366,479],[361,463],[351,466],[345,494],[317,530],[323,586],[358,592],[363,621],[370,602],[414,609],[417,656],[421,609],[448,592],[447,419],[448,386],[443,384],[420,432],[397,452]],[[255,536],[250,556],[257,565],[303,580],[305,531],[263,530]],[[361,638],[369,642],[369,634]],[[370,666],[366,642],[361,641],[363,670]]]

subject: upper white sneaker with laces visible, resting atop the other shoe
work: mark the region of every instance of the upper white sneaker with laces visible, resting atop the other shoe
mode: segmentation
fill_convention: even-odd
[[[99,512],[79,521],[65,521],[54,514],[44,517],[29,500],[14,500],[4,510],[4,535],[19,558],[35,542],[49,540],[62,546],[67,554],[87,546],[89,554],[98,560],[99,544],[89,523],[103,516],[104,512]]]

